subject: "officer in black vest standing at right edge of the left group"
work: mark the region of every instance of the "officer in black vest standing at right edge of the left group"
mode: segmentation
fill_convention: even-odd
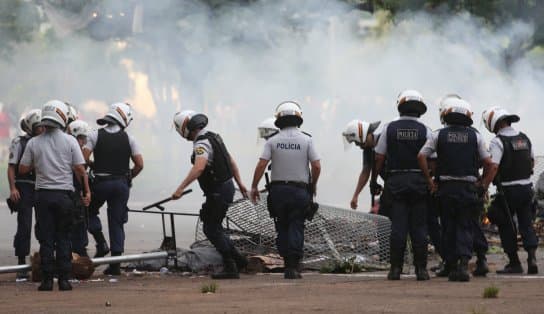
[[[108,252],[98,217],[98,209],[104,202],[108,206],[111,256],[120,256],[125,250],[124,224],[128,221],[129,189],[132,179],[144,168],[143,157],[136,141],[125,132],[132,119],[132,108],[129,104],[112,104],[108,113],[96,121],[104,127],[90,132],[83,148],[85,160],[94,173],[93,202],[89,206],[89,232],[97,241],[96,257]],[[94,157],[92,163],[89,160],[91,154]],[[131,160],[134,164],[132,169]],[[104,274],[120,275],[120,264],[110,264]]]

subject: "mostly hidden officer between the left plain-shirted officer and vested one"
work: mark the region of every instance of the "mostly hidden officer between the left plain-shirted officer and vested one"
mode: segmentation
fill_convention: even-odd
[[[74,120],[66,128],[68,134],[76,138],[79,147],[83,152],[83,147],[87,144],[87,134],[89,133],[89,124],[82,120]],[[83,187],[74,177],[74,189],[76,194],[81,193]],[[74,228],[72,231],[72,251],[79,256],[87,255],[87,245],[89,238],[87,236],[87,208],[81,202],[76,202],[76,217],[74,217]]]

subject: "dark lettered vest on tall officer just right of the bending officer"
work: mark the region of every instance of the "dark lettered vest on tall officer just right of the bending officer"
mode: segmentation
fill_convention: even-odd
[[[386,132],[387,171],[419,169],[417,155],[427,140],[427,127],[415,120],[397,120]]]

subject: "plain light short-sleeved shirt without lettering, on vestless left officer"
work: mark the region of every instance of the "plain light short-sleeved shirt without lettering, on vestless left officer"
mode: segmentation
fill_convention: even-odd
[[[57,128],[30,139],[21,159],[21,165],[34,167],[36,189],[73,191],[72,168],[84,164],[77,140]]]

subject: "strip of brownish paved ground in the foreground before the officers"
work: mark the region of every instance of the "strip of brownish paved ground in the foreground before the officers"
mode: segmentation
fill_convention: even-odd
[[[207,277],[157,273],[124,275],[117,282],[74,284],[71,292],[38,292],[36,283],[15,283],[12,274],[0,276],[2,313],[542,313],[544,276],[473,279],[451,283],[442,278],[417,282],[385,280],[385,273],[321,275],[303,280],[281,275],[243,275],[241,280],[215,281],[215,294],[200,289]],[[500,289],[497,299],[484,299],[486,287]],[[111,306],[106,306],[110,302]]]

